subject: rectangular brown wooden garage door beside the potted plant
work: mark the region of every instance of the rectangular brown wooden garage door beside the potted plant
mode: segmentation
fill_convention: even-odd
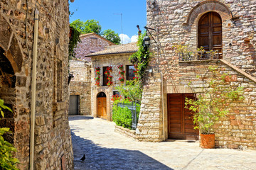
[[[168,94],[168,137],[179,140],[197,140],[198,130],[193,129],[192,113],[185,108],[185,98],[193,94]]]

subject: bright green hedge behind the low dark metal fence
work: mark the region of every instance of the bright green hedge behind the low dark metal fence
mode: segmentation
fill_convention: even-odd
[[[121,108],[117,106],[117,103],[120,101],[114,101],[113,105],[113,112],[112,112],[112,119],[116,125],[122,126],[124,128],[129,128],[132,129],[132,112],[129,110],[129,108],[124,107]],[[132,102],[128,100],[122,101],[125,105],[132,106]],[[139,110],[140,110],[140,105],[137,104],[137,120],[139,119]]]

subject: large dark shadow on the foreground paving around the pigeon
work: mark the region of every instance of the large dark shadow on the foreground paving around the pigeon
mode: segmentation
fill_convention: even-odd
[[[71,129],[75,169],[161,169],[172,170],[137,150],[106,148],[76,136]],[[85,162],[80,158],[85,154]],[[168,158],[166,158],[168,159]]]

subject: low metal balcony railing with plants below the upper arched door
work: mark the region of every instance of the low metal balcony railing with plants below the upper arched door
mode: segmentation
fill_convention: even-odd
[[[180,52],[178,53],[178,59],[180,61],[198,61],[198,60],[218,60],[220,53],[218,50],[210,52]]]

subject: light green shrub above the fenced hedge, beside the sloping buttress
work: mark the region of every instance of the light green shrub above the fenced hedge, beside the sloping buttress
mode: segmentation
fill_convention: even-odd
[[[142,84],[140,81],[127,81],[126,86],[121,84],[116,86],[116,89],[122,96],[128,97],[133,102],[140,103],[142,99]]]

